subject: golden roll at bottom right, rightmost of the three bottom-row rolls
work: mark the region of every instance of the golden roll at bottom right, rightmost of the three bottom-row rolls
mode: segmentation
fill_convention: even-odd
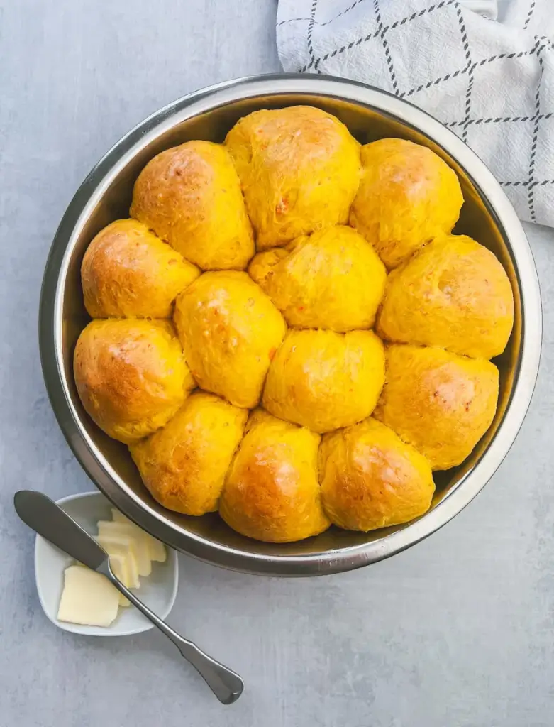
[[[431,465],[375,419],[326,434],[319,447],[325,513],[364,532],[407,523],[431,505]]]

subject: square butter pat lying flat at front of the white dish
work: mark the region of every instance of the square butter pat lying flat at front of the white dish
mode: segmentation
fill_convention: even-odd
[[[69,566],[58,608],[60,621],[84,626],[110,626],[118,615],[119,591],[105,576]]]

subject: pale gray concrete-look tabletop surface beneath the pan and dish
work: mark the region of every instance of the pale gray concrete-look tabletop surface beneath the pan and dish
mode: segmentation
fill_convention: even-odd
[[[551,727],[554,233],[528,228],[545,342],[531,411],[455,521],[391,561],[259,579],[181,558],[171,622],[239,671],[221,707],[158,633],[50,624],[12,492],[91,489],[41,378],[50,240],[97,158],[197,87],[277,71],[274,0],[0,0],[0,727]]]

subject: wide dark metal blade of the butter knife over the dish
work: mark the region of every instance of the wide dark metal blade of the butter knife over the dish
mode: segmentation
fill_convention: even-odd
[[[15,493],[14,505],[26,525],[79,563],[96,571],[107,561],[106,551],[96,540],[46,495],[20,490]]]

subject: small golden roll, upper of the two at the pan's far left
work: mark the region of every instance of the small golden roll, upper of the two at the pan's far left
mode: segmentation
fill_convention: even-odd
[[[92,318],[171,318],[173,302],[200,275],[137,220],[116,220],[97,234],[81,265]]]

